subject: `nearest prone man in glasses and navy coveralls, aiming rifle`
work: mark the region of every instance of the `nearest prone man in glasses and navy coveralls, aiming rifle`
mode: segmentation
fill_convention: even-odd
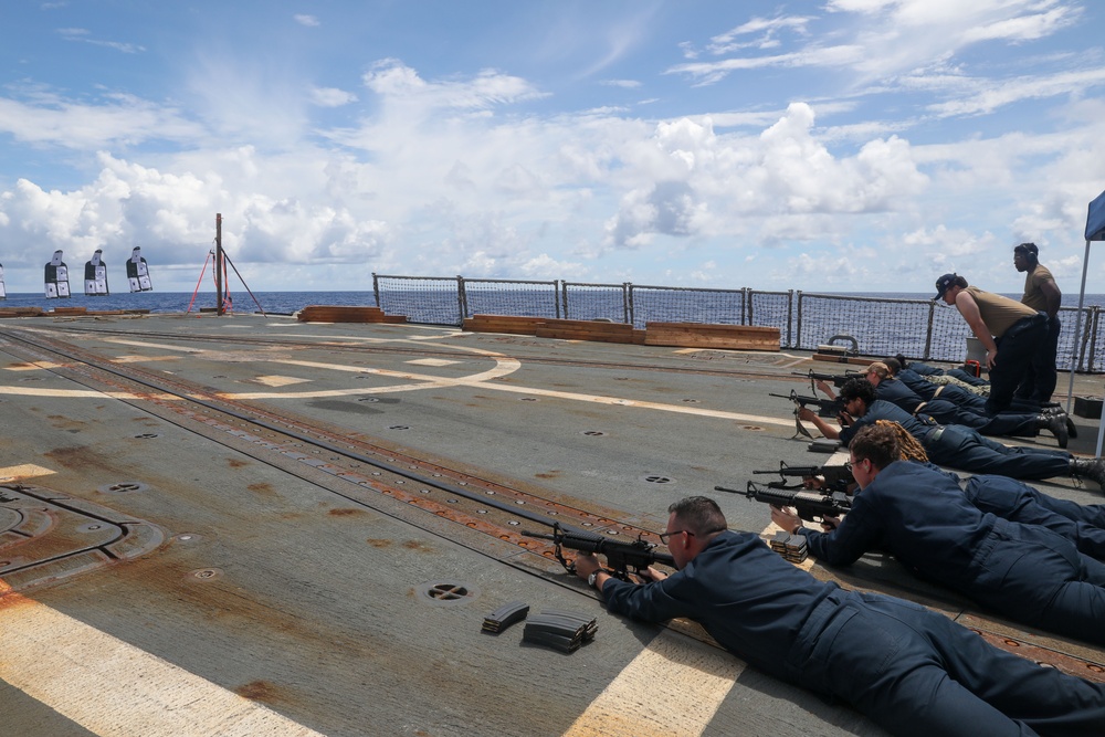
[[[750,533],[727,529],[712,501],[670,508],[681,569],[621,581],[579,556],[576,572],[611,612],[687,617],[726,650],[783,681],[839,698],[895,735],[1105,734],[1105,686],[1007,653],[943,614],[822,582]]]

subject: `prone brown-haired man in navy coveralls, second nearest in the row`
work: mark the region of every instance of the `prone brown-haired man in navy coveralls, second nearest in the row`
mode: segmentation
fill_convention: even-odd
[[[848,565],[884,550],[1010,619],[1105,644],[1105,564],[1050,529],[982,512],[939,470],[896,460],[892,428],[865,428],[849,451],[862,491],[835,529],[806,529],[771,512],[780,527],[806,536],[810,555]]]

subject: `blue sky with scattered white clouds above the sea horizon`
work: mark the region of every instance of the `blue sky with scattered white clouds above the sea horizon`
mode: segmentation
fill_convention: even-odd
[[[1091,0],[4,0],[0,264],[1077,294]],[[1086,291],[1105,293],[1105,248]],[[77,285],[78,286],[78,285]],[[76,289],[80,292],[80,288]]]

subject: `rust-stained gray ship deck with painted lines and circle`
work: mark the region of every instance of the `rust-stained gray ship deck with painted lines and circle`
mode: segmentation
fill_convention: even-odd
[[[302,435],[325,429],[329,444],[269,439],[188,409],[182,394],[125,388],[103,366],[284,418]],[[792,439],[790,404],[768,396],[810,393],[792,372],[811,367],[844,368],[808,354],[280,316],[2,320],[0,528],[38,529],[0,537],[0,580],[14,589],[0,598],[0,731],[882,734],[745,667],[694,627],[609,615],[552,561],[490,531],[532,522],[417,480],[381,491],[365,445],[350,462],[333,442],[391,451],[379,457],[392,465],[419,459],[457,488],[516,489],[525,497],[494,496],[534,514],[662,531],[669,504],[706,494],[730,527],[765,531],[765,505],[713,487],[825,460]],[[1076,382],[1095,394],[1103,379]],[[1097,421],[1075,420],[1071,450],[1088,453]],[[1102,501],[1069,480],[1040,487]],[[107,528],[126,538],[105,552]],[[20,568],[34,556],[50,562]],[[813,571],[1105,664],[1098,650],[971,610],[877,556]],[[457,598],[431,596],[446,589]],[[565,655],[523,643],[520,623],[482,633],[484,615],[514,600],[594,617],[598,635]]]

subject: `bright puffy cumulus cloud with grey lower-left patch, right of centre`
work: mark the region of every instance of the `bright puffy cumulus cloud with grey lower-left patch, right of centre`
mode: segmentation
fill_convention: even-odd
[[[639,248],[653,234],[718,236],[733,223],[770,218],[769,230],[808,213],[873,213],[923,192],[928,178],[897,137],[867,141],[836,158],[812,135],[809,105],[791,105],[758,138],[718,136],[683,119],[661,124],[651,157],[618,215],[607,244]],[[820,234],[823,231],[814,231]]]

